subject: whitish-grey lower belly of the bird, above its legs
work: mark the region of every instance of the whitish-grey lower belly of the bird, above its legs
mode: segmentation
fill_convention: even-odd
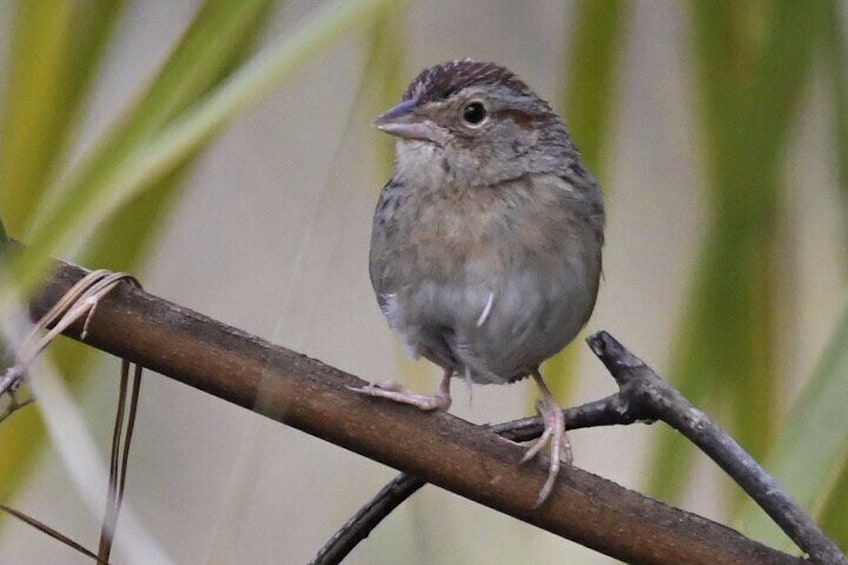
[[[523,265],[462,283],[424,280],[397,293],[387,314],[415,355],[477,383],[511,382],[562,349],[588,319],[597,286],[572,263]]]

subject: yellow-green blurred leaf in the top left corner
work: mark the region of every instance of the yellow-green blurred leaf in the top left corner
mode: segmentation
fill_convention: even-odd
[[[16,4],[0,129],[0,202],[12,233],[24,231],[56,176],[125,4]]]

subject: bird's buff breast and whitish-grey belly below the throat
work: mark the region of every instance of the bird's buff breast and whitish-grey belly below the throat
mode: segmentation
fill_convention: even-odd
[[[420,196],[397,196],[393,205]],[[556,177],[467,202],[460,192],[438,213],[434,196],[426,198],[415,221],[381,227],[375,218],[372,240],[381,307],[414,354],[475,382],[508,382],[573,339],[600,276],[595,200]]]

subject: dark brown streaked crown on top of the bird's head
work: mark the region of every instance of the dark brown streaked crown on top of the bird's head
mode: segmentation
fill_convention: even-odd
[[[502,85],[532,95],[530,88],[506,67],[458,59],[424,69],[406,88],[403,99],[417,99],[419,103],[445,100],[472,85]]]

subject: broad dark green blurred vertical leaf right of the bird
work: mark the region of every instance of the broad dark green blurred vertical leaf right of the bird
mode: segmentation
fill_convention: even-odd
[[[812,78],[821,2],[690,4],[709,226],[682,312],[672,377],[696,405],[721,408],[761,459],[777,433],[776,350],[783,162]],[[691,448],[661,434],[651,490],[678,495]]]

